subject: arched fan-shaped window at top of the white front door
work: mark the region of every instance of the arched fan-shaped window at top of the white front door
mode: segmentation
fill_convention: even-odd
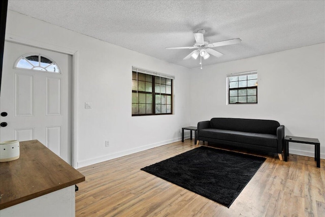
[[[60,73],[57,64],[42,54],[22,55],[16,60],[14,68]]]

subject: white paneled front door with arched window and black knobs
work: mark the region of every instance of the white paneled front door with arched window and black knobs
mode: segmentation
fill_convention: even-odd
[[[20,68],[32,68],[38,60],[40,67]],[[0,127],[0,141],[37,139],[71,164],[71,111],[72,56],[5,42],[0,122],[7,126]]]

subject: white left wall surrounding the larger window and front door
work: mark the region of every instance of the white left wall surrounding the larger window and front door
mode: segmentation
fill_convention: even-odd
[[[188,69],[13,11],[8,11],[6,34],[77,51],[75,167],[180,140],[178,130],[189,125]],[[132,66],[176,77],[173,115],[131,116]],[[92,109],[85,109],[85,102],[91,102]]]

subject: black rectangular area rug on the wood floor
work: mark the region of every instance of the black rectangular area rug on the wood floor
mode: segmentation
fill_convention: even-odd
[[[141,170],[229,208],[265,160],[201,146]]]

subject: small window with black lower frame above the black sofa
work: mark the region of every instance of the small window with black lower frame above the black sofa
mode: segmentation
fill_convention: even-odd
[[[257,103],[257,72],[231,74],[228,79],[229,104]]]

